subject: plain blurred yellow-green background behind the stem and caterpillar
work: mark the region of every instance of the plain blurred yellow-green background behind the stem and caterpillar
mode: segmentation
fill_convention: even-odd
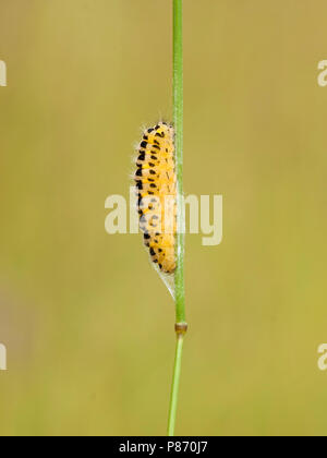
[[[326,434],[325,0],[184,2],[186,239],[177,434]],[[171,1],[0,0],[1,435],[161,435],[173,303],[105,232],[142,125],[171,113]]]

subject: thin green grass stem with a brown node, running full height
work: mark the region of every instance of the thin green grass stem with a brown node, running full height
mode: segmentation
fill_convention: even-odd
[[[182,364],[185,323],[184,288],[184,210],[183,210],[183,0],[173,1],[173,124],[175,130],[177,169],[177,269],[175,269],[175,332],[177,349],[171,387],[168,435],[174,435],[179,385]]]

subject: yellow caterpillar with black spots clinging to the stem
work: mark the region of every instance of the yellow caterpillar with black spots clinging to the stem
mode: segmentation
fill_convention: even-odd
[[[137,148],[135,182],[140,229],[153,263],[175,270],[177,179],[174,130],[165,122],[147,129]]]

